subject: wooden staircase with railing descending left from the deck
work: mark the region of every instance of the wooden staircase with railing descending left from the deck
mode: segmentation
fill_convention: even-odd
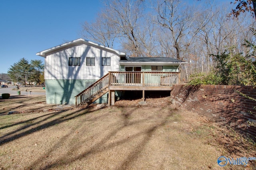
[[[91,86],[75,96],[76,107],[87,107],[108,92],[109,74],[106,74]]]

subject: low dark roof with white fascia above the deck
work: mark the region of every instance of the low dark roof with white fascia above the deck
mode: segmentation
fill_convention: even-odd
[[[127,57],[126,60],[120,60],[120,64],[187,64],[182,60],[169,57]]]

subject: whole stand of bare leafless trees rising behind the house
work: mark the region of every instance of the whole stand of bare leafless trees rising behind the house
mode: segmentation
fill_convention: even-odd
[[[236,0],[238,2],[238,0]],[[244,39],[251,39],[255,23],[244,14],[228,19],[230,8],[205,0],[197,6],[180,0],[105,0],[95,21],[83,24],[84,37],[132,57],[174,57],[189,64],[181,66],[182,79],[196,72],[210,72],[212,54],[236,46],[245,53]],[[149,6],[147,6],[149,5]],[[246,55],[246,54],[244,54]]]

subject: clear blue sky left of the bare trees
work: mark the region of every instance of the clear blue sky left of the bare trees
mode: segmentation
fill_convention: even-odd
[[[84,21],[100,12],[100,0],[1,0],[0,74],[24,57],[80,38]]]

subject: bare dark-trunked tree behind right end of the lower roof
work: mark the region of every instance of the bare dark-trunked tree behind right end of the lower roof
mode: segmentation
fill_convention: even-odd
[[[160,25],[163,31],[170,31],[176,58],[181,59],[181,41],[191,33],[189,28],[194,22],[194,9],[184,7],[178,0],[159,0],[153,8],[157,13],[155,23]]]

